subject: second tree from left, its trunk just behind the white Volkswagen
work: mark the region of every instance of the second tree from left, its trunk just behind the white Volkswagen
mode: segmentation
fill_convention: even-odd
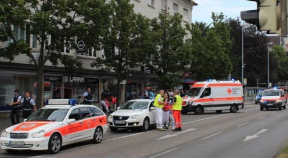
[[[117,95],[120,98],[120,82],[126,79],[128,68],[134,68],[146,58],[149,50],[149,19],[134,13],[129,0],[109,2],[112,14],[103,35],[105,58],[97,58],[92,67],[117,74]],[[117,105],[119,105],[117,99]]]

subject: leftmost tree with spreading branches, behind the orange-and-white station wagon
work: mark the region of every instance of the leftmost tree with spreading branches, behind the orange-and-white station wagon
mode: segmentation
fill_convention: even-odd
[[[101,18],[103,16],[101,8],[105,8],[103,0],[5,0],[0,2],[0,40],[10,42],[7,47],[0,49],[0,57],[12,61],[15,56],[26,54],[32,59],[37,71],[36,105],[38,108],[41,108],[44,103],[46,62],[50,61],[54,66],[63,65],[69,72],[82,68],[82,63],[76,58],[63,55],[61,52],[64,46],[69,49],[75,48],[76,37],[88,38],[94,43],[99,41],[100,37],[95,32],[93,38],[91,33],[87,32],[93,26],[103,28],[99,25],[106,17]],[[98,25],[88,21],[89,16],[99,20]],[[29,23],[30,27],[24,27],[25,23]],[[33,39],[40,47],[38,59],[35,58],[35,53],[32,53],[28,41],[15,37],[16,34],[11,29],[12,25],[33,35]]]

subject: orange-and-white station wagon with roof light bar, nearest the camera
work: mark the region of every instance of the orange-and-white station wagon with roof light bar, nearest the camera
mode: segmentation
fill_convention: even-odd
[[[58,153],[62,146],[79,141],[100,143],[108,128],[106,115],[93,105],[75,103],[74,99],[50,99],[49,105],[1,133],[1,149]]]

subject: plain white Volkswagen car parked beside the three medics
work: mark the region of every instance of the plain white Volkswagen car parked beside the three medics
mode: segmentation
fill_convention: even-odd
[[[148,131],[151,125],[156,124],[156,110],[153,104],[154,100],[150,99],[135,99],[125,102],[108,117],[110,130],[140,128]]]

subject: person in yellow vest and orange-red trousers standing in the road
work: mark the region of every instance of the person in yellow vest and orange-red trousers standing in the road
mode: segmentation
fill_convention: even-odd
[[[175,98],[173,103],[173,116],[175,119],[176,128],[173,131],[182,131],[181,125],[181,109],[182,109],[182,98],[179,96],[180,90],[175,91]]]

